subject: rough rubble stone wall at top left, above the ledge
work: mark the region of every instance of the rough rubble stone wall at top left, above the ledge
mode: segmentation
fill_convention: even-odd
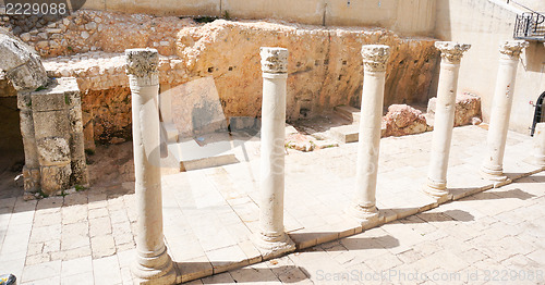
[[[4,26],[43,58],[88,51],[122,52],[138,47],[153,47],[162,55],[171,55],[178,30],[194,25],[190,18],[92,10],[80,10],[62,20],[51,15],[12,15],[7,20]]]

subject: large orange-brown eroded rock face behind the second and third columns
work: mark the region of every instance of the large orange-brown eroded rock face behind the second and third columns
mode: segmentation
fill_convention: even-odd
[[[384,29],[221,20],[182,28],[177,54],[186,65],[189,79],[214,76],[227,116],[258,116],[259,48],[287,48],[287,117],[295,120],[339,104],[359,104],[363,80],[360,50],[367,44],[391,47],[386,106],[427,100],[438,59],[434,40],[401,39]]]

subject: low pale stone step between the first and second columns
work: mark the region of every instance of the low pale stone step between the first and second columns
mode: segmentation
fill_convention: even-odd
[[[178,163],[180,172],[201,170],[238,163],[231,140],[217,140],[199,145],[194,139],[168,145],[171,161]]]

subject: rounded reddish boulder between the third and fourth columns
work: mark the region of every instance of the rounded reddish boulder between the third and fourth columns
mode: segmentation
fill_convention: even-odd
[[[427,131],[426,119],[420,110],[407,104],[392,104],[385,116],[385,136],[405,136]]]

